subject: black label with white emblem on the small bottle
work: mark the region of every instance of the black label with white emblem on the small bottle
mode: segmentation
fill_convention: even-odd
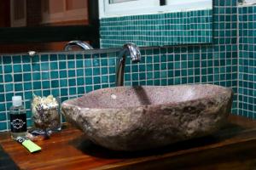
[[[10,127],[12,133],[26,132],[26,114],[10,114]]]

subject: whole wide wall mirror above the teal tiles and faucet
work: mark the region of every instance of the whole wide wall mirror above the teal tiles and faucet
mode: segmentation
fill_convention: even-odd
[[[0,13],[0,54],[62,51],[72,40],[93,48],[212,42],[212,0],[3,0]]]

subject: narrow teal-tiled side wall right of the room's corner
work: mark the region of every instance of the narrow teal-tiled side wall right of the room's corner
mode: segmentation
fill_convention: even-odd
[[[238,113],[256,118],[256,6],[239,8]]]

